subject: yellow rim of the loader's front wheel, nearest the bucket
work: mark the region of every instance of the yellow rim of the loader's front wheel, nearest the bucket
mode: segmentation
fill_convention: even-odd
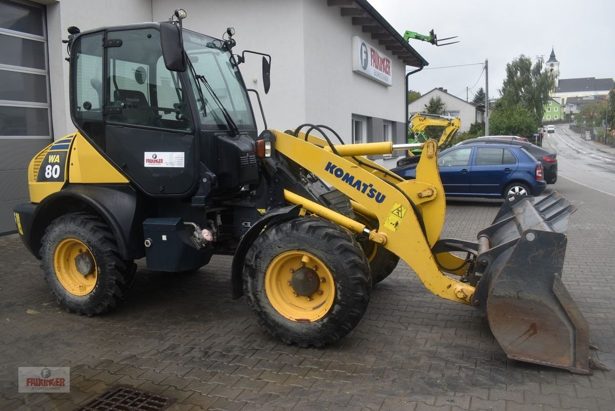
[[[287,251],[271,261],[265,273],[265,292],[282,316],[296,322],[314,322],[333,306],[335,283],[319,258],[304,251]]]

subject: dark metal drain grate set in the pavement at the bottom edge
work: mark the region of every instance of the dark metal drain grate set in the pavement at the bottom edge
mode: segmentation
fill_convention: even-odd
[[[77,411],[159,411],[169,407],[175,398],[148,393],[141,389],[111,389]]]

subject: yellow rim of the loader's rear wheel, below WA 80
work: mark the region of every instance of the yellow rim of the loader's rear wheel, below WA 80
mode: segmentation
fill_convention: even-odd
[[[92,269],[82,274],[77,269],[76,258],[84,258],[91,262]],[[55,247],[54,252],[55,276],[62,287],[69,293],[79,297],[87,295],[94,289],[98,276],[98,268],[92,253],[87,246],[76,238],[63,239]]]

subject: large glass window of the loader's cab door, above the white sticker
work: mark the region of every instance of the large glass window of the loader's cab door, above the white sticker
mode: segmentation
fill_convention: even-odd
[[[189,131],[188,105],[177,73],[162,62],[160,34],[153,28],[108,31],[121,40],[107,49],[108,122]],[[109,110],[108,110],[109,111]]]

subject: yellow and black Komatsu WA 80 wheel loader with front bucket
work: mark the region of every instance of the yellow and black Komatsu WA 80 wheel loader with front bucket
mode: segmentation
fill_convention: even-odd
[[[137,258],[180,273],[228,254],[233,297],[269,332],[323,346],[402,258],[435,295],[485,313],[510,358],[590,372],[587,322],[561,282],[568,201],[510,197],[477,241],[441,239],[434,140],[344,145],[318,124],[258,134],[239,71],[255,52],[234,55],[232,28],[216,39],[185,17],[69,28],[77,131],[34,157],[30,202],[14,210],[58,303],[105,313]],[[256,54],[267,91],[271,57]],[[366,158],[418,146],[416,180]]]

